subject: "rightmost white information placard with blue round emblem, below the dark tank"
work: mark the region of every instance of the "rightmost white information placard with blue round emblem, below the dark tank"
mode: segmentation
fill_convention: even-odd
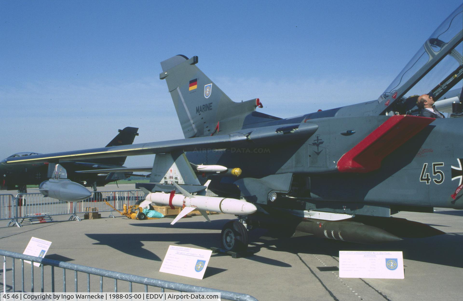
[[[339,277],[404,279],[401,251],[339,251]]]

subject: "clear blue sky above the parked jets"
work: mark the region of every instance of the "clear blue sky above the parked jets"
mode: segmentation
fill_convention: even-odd
[[[134,143],[183,138],[159,80],[177,54],[283,118],[376,99],[460,4],[1,1],[0,159],[104,146],[125,126]]]

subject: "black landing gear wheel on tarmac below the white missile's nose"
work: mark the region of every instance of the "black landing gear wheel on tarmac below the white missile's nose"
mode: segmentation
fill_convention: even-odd
[[[221,233],[222,246],[227,251],[246,251],[248,230],[237,220],[225,224]]]

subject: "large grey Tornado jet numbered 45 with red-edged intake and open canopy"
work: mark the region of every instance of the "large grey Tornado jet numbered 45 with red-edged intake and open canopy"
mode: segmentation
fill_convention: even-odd
[[[258,112],[259,99],[232,101],[197,67],[197,56],[173,56],[161,63],[160,79],[184,139],[2,163],[156,154],[149,168],[125,169],[151,172],[150,183],[138,184],[146,200],[182,205],[180,215],[192,208],[237,215],[222,230],[228,250],[245,248],[255,227],[358,243],[437,235],[394,213],[463,209],[462,41],[459,6],[378,99],[287,119]],[[453,111],[420,117],[415,94]]]

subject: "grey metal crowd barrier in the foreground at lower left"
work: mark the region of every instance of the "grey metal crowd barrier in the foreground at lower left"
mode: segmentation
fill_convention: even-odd
[[[29,260],[31,261],[31,278],[28,279],[31,282],[31,293],[34,292],[35,287],[34,287],[34,270],[37,270],[38,268],[34,269],[33,263],[41,263],[40,265],[40,292],[45,292],[45,285],[47,285],[47,291],[46,292],[51,292],[54,293],[56,289],[56,283],[55,283],[55,267],[56,268],[61,268],[63,270],[63,285],[62,289],[63,292],[66,292],[66,270],[72,270],[74,271],[74,290],[75,292],[79,292],[79,288],[85,288],[85,286],[80,286],[78,285],[78,274],[77,272],[81,272],[86,274],[86,279],[87,279],[87,292],[90,292],[90,276],[99,276],[99,291],[103,292],[103,279],[104,278],[109,278],[114,280],[114,286],[112,283],[110,283],[111,288],[114,288],[114,292],[118,291],[118,280],[120,281],[125,281],[128,282],[128,292],[131,293],[133,289],[133,284],[138,283],[144,286],[144,292],[148,292],[148,287],[156,287],[156,288],[161,288],[161,292],[165,292],[165,289],[169,290],[174,290],[178,292],[189,292],[189,293],[220,293],[221,299],[225,300],[236,300],[236,301],[257,301],[256,298],[254,298],[251,295],[247,294],[240,294],[240,293],[235,293],[235,292],[230,292],[230,291],[225,291],[225,290],[220,290],[220,289],[214,289],[214,288],[205,288],[201,286],[195,286],[195,285],[189,285],[189,284],[184,284],[184,283],[179,283],[179,282],[170,282],[170,281],[164,281],[164,280],[159,280],[159,279],[154,279],[154,278],[146,278],[142,276],[136,276],[136,275],[131,275],[131,274],[125,274],[125,273],[120,273],[120,272],[115,272],[115,271],[110,271],[110,270],[102,270],[102,269],[97,269],[97,268],[92,268],[84,265],[79,265],[79,264],[74,264],[74,263],[66,263],[63,261],[57,261],[57,260],[51,260],[47,258],[41,258],[41,257],[35,257],[35,256],[29,256],[29,255],[24,255],[16,252],[11,252],[11,251],[5,251],[5,250],[0,250],[0,256],[3,256],[3,292],[16,292],[16,283],[17,279],[21,279],[21,292],[25,292],[25,272],[24,272],[24,260]],[[9,271],[8,264],[6,263],[6,257],[12,258],[10,268],[11,268],[11,277],[6,277],[6,273]],[[20,276],[18,276],[16,272],[16,266],[15,266],[15,259],[19,259],[21,262],[21,267],[20,267]],[[44,266],[50,266],[50,279],[47,279],[47,282],[44,280],[44,275],[45,275],[45,269]],[[48,270],[48,269],[47,269]],[[58,278],[60,276],[57,276]],[[10,283],[11,285],[7,284],[7,280],[11,279]],[[45,284],[46,283],[46,284]],[[48,286],[50,285],[50,286]],[[108,287],[106,285],[106,287]],[[105,291],[106,292],[106,291]]]

